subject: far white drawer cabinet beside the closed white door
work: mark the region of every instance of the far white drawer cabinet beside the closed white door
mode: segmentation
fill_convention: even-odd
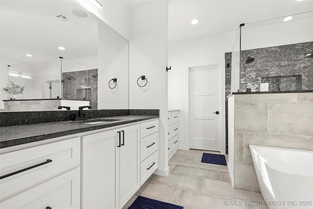
[[[179,146],[179,111],[169,110],[167,112],[168,120],[168,159],[176,153]]]

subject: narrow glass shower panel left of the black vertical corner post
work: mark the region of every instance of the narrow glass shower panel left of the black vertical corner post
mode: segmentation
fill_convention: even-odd
[[[237,31],[231,54],[231,92],[238,92],[240,89],[240,28]],[[226,75],[227,79],[227,75]],[[227,83],[227,81],[226,81]]]

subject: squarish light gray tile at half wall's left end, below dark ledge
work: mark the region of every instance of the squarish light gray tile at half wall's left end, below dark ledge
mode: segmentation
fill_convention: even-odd
[[[235,103],[235,132],[268,131],[267,103]]]

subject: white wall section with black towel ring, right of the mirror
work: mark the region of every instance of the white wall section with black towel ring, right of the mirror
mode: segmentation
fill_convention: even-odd
[[[130,109],[159,109],[159,167],[169,172],[167,155],[167,39],[168,4],[157,1],[130,10]],[[137,85],[145,75],[148,84]],[[141,81],[141,80],[140,80]]]

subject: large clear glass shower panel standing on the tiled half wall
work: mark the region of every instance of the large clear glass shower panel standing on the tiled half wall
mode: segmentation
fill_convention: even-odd
[[[240,92],[313,90],[313,12],[246,23],[240,67]]]

